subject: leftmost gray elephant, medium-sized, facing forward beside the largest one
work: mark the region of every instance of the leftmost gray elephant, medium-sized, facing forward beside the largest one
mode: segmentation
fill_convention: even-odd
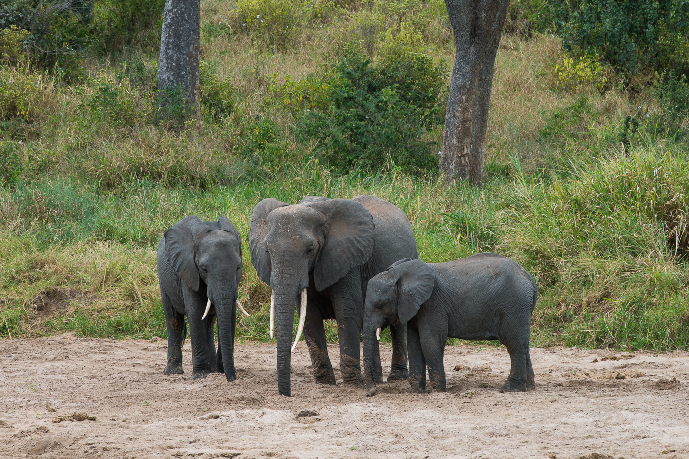
[[[158,244],[158,279],[167,323],[165,374],[184,373],[182,341],[187,331],[186,315],[194,356],[192,379],[205,378],[214,372],[225,373],[227,381],[236,379],[235,301],[241,277],[241,240],[227,217],[204,222],[189,215],[165,231]],[[201,320],[208,299],[212,306]],[[217,354],[213,330],[216,317]]]

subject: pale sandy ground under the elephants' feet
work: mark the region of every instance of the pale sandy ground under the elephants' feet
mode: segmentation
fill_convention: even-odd
[[[533,349],[536,389],[501,394],[506,351],[458,346],[448,392],[400,381],[366,397],[313,383],[302,342],[288,398],[272,345],[238,344],[234,383],[190,381],[189,341],[187,373],[164,376],[165,345],[0,341],[0,458],[689,458],[687,352]]]

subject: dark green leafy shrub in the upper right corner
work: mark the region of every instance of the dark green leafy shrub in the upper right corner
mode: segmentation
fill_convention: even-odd
[[[567,50],[599,54],[630,74],[644,67],[689,72],[684,0],[548,0]]]

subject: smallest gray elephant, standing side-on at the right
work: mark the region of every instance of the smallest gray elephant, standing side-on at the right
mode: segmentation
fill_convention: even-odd
[[[364,309],[364,367],[378,347],[376,328],[391,321],[407,324],[409,383],[426,392],[426,365],[434,390],[444,392],[443,354],[448,337],[497,339],[512,366],[501,392],[535,387],[528,352],[531,313],[538,289],[517,263],[495,253],[479,253],[425,264],[400,260],[369,281]],[[365,374],[365,372],[364,372]],[[375,394],[373,381],[366,381]]]

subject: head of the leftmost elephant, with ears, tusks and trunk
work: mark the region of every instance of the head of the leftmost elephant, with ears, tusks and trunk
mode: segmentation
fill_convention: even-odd
[[[199,311],[194,311],[194,317],[205,319],[211,303],[214,304],[218,317],[218,340],[220,348],[225,350],[222,353],[223,365],[232,367],[228,359],[232,358],[234,344],[235,303],[247,314],[237,299],[237,287],[242,277],[239,233],[227,217],[220,217],[218,222],[204,222],[195,215],[189,215],[165,231],[165,253],[184,284],[208,299],[203,317]],[[191,315],[187,311],[190,324]],[[227,372],[225,376],[228,381],[235,377]]]

